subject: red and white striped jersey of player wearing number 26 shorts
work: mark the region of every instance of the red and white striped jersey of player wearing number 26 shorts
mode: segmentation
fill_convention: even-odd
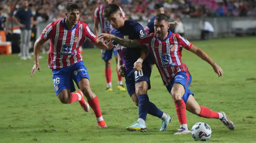
[[[65,19],[46,26],[41,38],[44,41],[50,39],[48,66],[51,69],[65,68],[82,61],[80,45],[86,39],[91,43],[97,39],[86,23],[78,21],[73,29],[68,29]]]

